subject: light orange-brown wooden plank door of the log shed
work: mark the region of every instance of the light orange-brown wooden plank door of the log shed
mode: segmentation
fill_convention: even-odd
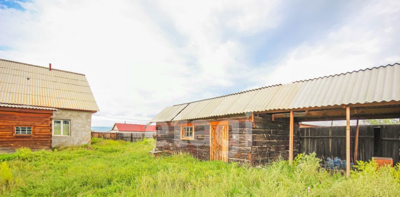
[[[228,121],[210,123],[210,159],[228,162]]]

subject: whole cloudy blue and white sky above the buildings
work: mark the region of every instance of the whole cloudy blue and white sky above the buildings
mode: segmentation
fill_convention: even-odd
[[[145,124],[170,105],[400,62],[399,13],[398,0],[0,0],[0,58],[85,74],[92,126]]]

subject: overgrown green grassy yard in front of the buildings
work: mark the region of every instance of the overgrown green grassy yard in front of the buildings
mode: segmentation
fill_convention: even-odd
[[[264,168],[154,159],[154,140],[94,138],[92,145],[0,155],[1,196],[400,196],[400,171],[361,163],[350,178],[319,169],[314,155]],[[310,187],[310,192],[308,192]]]

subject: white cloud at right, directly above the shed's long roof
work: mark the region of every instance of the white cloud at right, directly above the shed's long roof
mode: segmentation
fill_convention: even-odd
[[[260,86],[284,84],[398,62],[399,11],[397,1],[360,7],[325,38],[291,50],[272,72],[253,72],[255,81]]]

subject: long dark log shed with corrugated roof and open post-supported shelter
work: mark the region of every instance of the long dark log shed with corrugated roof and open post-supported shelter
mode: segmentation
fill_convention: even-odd
[[[346,120],[350,162],[350,119],[400,117],[399,90],[396,63],[173,105],[151,122],[166,152],[259,164],[279,155],[292,161],[298,122]]]

